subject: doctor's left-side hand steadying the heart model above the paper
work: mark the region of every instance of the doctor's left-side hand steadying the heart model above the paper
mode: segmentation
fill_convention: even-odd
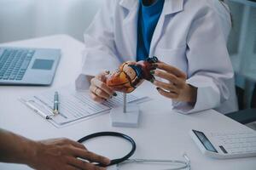
[[[107,86],[109,71],[104,71],[90,80],[90,97],[96,102],[102,103],[117,94]]]

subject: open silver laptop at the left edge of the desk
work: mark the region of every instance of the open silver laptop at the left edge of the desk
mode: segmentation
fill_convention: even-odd
[[[0,85],[50,85],[61,49],[0,47]]]

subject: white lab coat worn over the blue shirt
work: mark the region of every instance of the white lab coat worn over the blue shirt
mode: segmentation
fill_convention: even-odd
[[[139,0],[106,0],[84,34],[83,74],[113,71],[136,60]],[[198,88],[195,105],[173,101],[173,109],[192,113],[236,111],[234,73],[226,47],[229,9],[218,0],[166,0],[149,56],[187,73]]]

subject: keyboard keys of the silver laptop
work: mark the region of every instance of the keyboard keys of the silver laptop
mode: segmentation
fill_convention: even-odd
[[[0,56],[0,80],[22,80],[35,50],[5,49]]]

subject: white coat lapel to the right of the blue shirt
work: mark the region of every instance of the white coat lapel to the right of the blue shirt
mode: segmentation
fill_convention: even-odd
[[[170,19],[168,17],[171,14],[175,14],[183,10],[183,0],[166,0],[160,19],[155,27],[154,34],[150,43],[149,56],[154,55],[154,50],[156,48],[157,42],[160,40],[163,28],[165,26],[166,20]],[[172,38],[172,37],[170,37]]]

